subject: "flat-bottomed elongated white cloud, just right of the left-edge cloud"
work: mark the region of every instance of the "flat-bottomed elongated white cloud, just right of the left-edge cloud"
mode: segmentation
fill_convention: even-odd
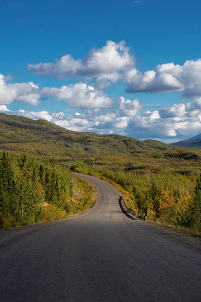
[[[62,86],[61,88],[43,88],[42,94],[65,100],[70,108],[110,108],[111,98],[102,91],[95,90],[84,83]]]

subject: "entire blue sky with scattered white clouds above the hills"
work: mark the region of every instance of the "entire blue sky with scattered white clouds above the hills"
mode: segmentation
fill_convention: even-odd
[[[0,3],[0,112],[173,142],[201,133],[197,0]]]

